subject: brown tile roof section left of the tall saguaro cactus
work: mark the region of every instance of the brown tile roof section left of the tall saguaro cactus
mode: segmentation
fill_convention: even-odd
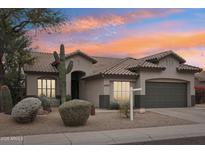
[[[25,65],[25,72],[42,72],[42,73],[58,73],[58,70],[51,65],[54,61],[52,53],[31,52],[32,56],[36,57],[34,65]]]

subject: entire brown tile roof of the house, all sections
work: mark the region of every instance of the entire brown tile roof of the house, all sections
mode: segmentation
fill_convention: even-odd
[[[87,58],[93,65],[91,67],[91,74],[85,76],[84,78],[96,76],[96,75],[127,75],[127,76],[136,76],[136,70],[140,68],[145,69],[166,69],[164,66],[160,66],[156,63],[156,60],[160,60],[168,55],[174,55],[180,63],[185,62],[183,58],[175,54],[173,51],[166,51],[158,53],[155,55],[147,56],[141,59],[134,58],[110,58],[110,57],[91,57],[81,51],[76,51],[74,53],[68,54],[67,58],[70,58],[76,54],[80,54],[83,57]],[[25,72],[51,72],[58,73],[58,70],[51,64],[54,62],[52,53],[41,53],[41,52],[32,52],[32,55],[37,57],[37,61],[34,65],[25,65]],[[135,71],[135,72],[134,72]],[[180,64],[177,67],[177,71],[189,71],[189,72],[199,72],[200,68]]]

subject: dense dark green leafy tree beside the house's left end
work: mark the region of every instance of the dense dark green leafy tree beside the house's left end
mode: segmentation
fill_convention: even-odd
[[[6,69],[4,83],[12,91],[13,103],[16,104],[23,97],[22,88],[25,84],[25,76],[22,73],[22,68],[25,64],[33,64],[36,57],[30,55],[29,48],[31,41],[29,38],[22,36],[16,40],[12,40],[10,48],[5,56],[6,63],[4,65]],[[12,51],[12,52],[11,52]]]

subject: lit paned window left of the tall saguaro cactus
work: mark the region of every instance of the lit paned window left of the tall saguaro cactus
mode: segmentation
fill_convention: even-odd
[[[56,81],[53,79],[38,79],[38,96],[56,96]]]

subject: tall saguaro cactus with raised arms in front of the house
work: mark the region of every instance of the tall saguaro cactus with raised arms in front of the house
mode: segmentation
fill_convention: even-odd
[[[61,104],[63,104],[66,100],[66,74],[71,72],[73,68],[73,61],[70,61],[67,67],[65,66],[65,49],[63,44],[60,46],[60,56],[56,51],[54,51],[53,56],[59,72]]]

